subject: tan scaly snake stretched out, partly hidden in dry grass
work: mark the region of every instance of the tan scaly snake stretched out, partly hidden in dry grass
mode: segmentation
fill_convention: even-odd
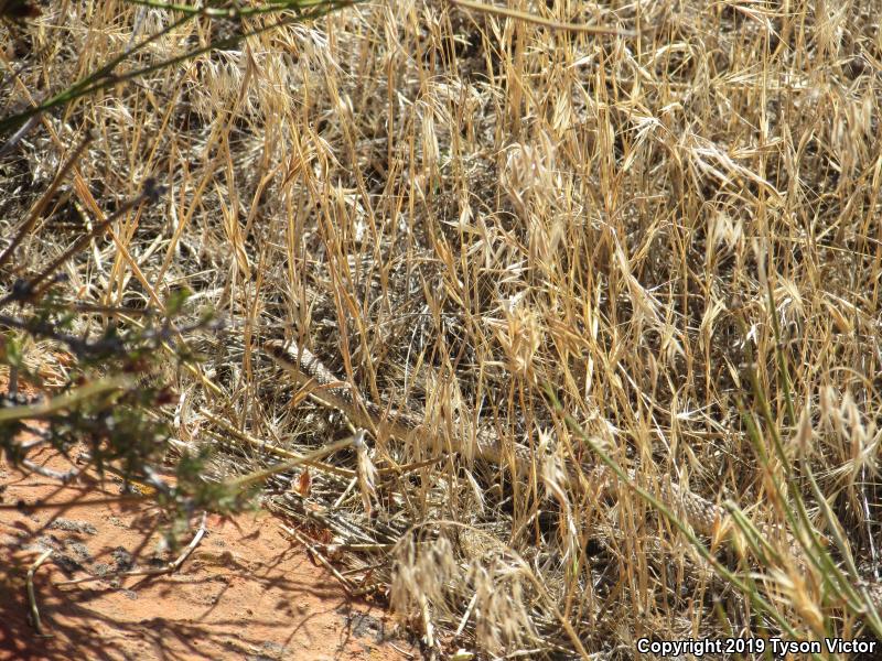
[[[411,441],[420,434],[427,433],[423,416],[392,408],[384,408],[364,397],[355,397],[353,389],[346,381],[338,379],[312,351],[294,343],[269,340],[265,344],[267,355],[282,369],[292,375],[302,386],[316,387],[313,394],[318,395],[327,405],[343,412],[349,421],[367,429],[374,434],[384,434],[400,441]],[[482,427],[475,432],[474,454],[486,462],[506,465],[508,454],[494,430]],[[453,451],[462,451],[466,441],[454,443]],[[509,451],[510,452],[510,451]],[[516,445],[514,448],[516,469],[526,469],[533,464],[534,457],[527,447]],[[633,469],[625,472],[628,481],[636,483],[636,473]],[[579,467],[570,470],[570,477],[584,478],[590,485],[600,487],[614,484],[620,477],[607,466]],[[703,535],[716,537],[720,531],[731,530],[733,522],[731,516],[722,507],[699,496],[695,491],[667,483],[659,485],[659,497],[663,503],[681,512],[684,520],[692,529]],[[764,535],[771,535],[774,530],[770,527],[761,528]],[[785,533],[786,534],[786,533]],[[797,542],[790,539],[794,548]],[[860,588],[865,589],[870,602],[878,610],[882,610],[882,583],[861,581]]]

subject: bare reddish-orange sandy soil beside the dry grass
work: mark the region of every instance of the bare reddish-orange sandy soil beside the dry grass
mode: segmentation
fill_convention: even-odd
[[[69,468],[46,451],[32,457]],[[118,496],[120,485],[80,478],[57,483],[23,476],[0,460],[0,502],[64,502]],[[171,575],[107,578],[60,586],[88,575],[151,566],[159,537],[149,502],[60,509],[0,510],[0,660],[22,659],[356,659],[417,657],[377,606],[356,603],[267,512],[222,520],[209,516],[202,542]],[[190,540],[184,537],[183,544]],[[29,619],[26,574],[34,575],[45,633]],[[175,554],[176,556],[176,554]],[[164,560],[173,560],[168,554]]]

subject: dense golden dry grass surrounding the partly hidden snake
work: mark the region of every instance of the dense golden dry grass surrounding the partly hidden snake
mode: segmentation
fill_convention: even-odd
[[[58,4],[2,33],[4,113],[169,21]],[[628,659],[643,637],[882,638],[783,532],[808,539],[810,522],[852,583],[882,567],[876,3],[512,7],[639,35],[406,0],[268,31],[45,116],[0,162],[0,235],[87,130],[19,263],[146,176],[169,187],[68,269],[71,292],[142,306],[186,285],[228,315],[201,378],[170,375],[181,443],[248,457],[226,470],[270,460],[260,442],[301,452],[343,429],[302,395],[289,405],[256,349],[283,336],[374,401],[424,404],[451,440],[493,425],[535,451],[518,475],[453,441],[377,438],[379,468],[438,460],[381,470],[375,517],[347,491],[345,452],[322,464],[336,473],[311,469],[320,514],[268,497],[331,525],[343,578],[388,582],[433,646]],[[230,25],[191,22],[140,64]],[[599,462],[562,411],[648,491],[679,483],[779,539],[700,538],[714,570],[628,486],[544,477],[548,455]]]

